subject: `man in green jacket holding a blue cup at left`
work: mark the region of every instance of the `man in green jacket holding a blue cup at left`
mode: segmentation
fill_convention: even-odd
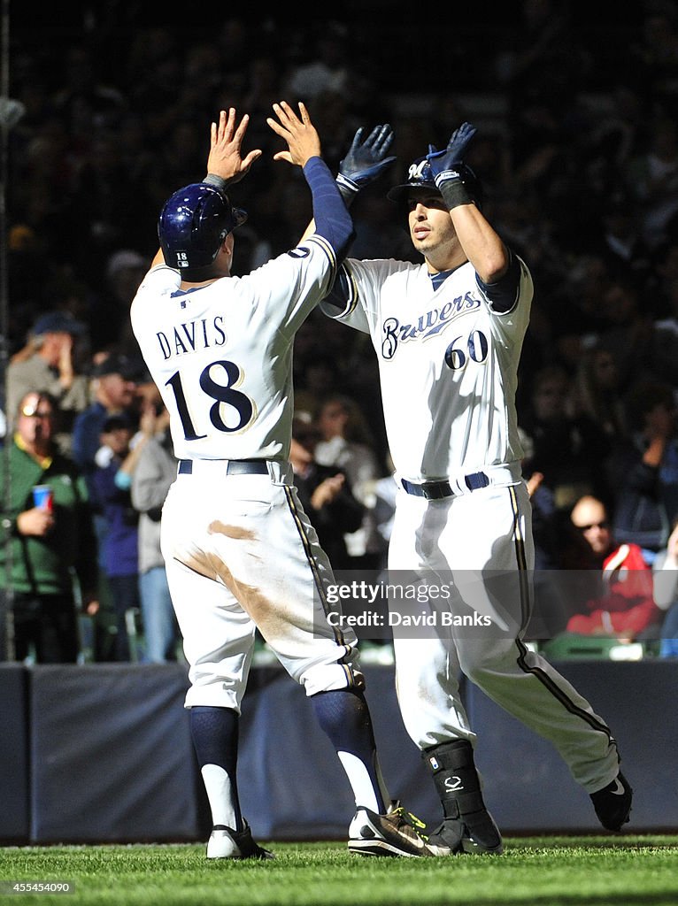
[[[92,615],[98,610],[87,488],[73,460],[54,443],[56,400],[31,391],[13,414],[15,435],[0,459],[0,478],[9,487],[1,520],[0,658],[11,653],[15,660],[34,656],[38,663],[74,663],[80,650],[78,609]],[[34,487],[40,485],[51,492],[45,506],[34,502]],[[13,640],[5,637],[7,625],[13,627]]]

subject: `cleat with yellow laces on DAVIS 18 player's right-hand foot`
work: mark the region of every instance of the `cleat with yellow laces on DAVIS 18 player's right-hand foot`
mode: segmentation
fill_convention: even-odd
[[[348,849],[358,855],[402,855],[411,859],[430,856],[426,841],[417,831],[423,826],[397,803],[392,803],[386,814],[361,807],[348,828]]]

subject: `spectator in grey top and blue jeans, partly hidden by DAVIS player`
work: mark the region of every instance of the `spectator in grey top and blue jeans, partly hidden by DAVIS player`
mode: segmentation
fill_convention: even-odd
[[[144,660],[177,660],[179,627],[174,614],[165,561],[160,553],[160,516],[169,486],[177,477],[177,459],[169,433],[169,412],[150,403],[152,437],[140,451],[131,476],[131,504],[139,513],[139,591]]]

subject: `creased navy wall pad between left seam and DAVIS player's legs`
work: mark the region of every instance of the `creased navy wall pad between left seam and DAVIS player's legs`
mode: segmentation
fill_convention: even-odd
[[[207,840],[187,685],[179,664],[31,669],[33,843]]]

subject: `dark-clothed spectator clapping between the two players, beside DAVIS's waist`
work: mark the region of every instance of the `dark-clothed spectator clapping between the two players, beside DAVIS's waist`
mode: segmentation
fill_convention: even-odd
[[[353,559],[346,549],[344,536],[360,527],[364,507],[354,497],[344,471],[339,467],[320,465],[315,459],[320,436],[307,413],[297,414],[289,461],[294,469],[301,505],[332,568],[349,570],[353,568]]]

